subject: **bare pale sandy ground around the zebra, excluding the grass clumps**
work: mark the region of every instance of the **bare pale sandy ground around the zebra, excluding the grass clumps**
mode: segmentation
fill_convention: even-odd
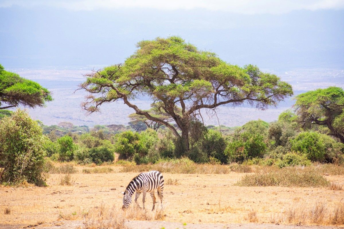
[[[102,203],[120,208],[120,192],[124,191],[130,180],[137,175],[119,172],[83,174],[82,168],[77,167],[79,173],[72,174],[71,186],[59,185],[64,174],[51,174],[47,180],[48,187],[0,187],[0,228],[5,225],[7,228],[22,228],[42,222],[44,224],[38,227],[47,228],[56,223],[60,224],[57,222],[60,220],[81,220],[84,213]],[[119,167],[112,168],[119,170]],[[221,227],[224,224],[246,224],[252,222],[250,212],[256,213],[256,223],[269,224],[281,217],[281,212],[291,207],[311,208],[316,202],[323,201],[327,207],[334,208],[344,197],[343,190],[333,191],[327,187],[233,186],[244,175],[236,172],[163,175],[165,180],[179,181],[177,185],[165,185],[163,199],[166,215],[164,220],[178,223],[179,228],[183,228],[184,223],[221,223]],[[326,179],[344,182],[344,176],[326,176]],[[139,203],[142,206],[142,195]],[[146,208],[150,210],[151,206],[151,197],[147,195]],[[6,208],[10,209],[9,214],[4,214]],[[135,221],[133,223],[135,224]],[[60,225],[63,224],[65,223]],[[160,226],[164,225],[159,224],[152,228]]]

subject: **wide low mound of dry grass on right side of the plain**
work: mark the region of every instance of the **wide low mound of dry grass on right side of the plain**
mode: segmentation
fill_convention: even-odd
[[[312,167],[285,167],[247,174],[236,183],[239,186],[325,187],[329,181]]]

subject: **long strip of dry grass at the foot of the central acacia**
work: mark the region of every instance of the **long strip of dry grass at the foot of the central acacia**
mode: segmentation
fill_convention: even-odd
[[[163,161],[155,164],[125,165],[120,172],[146,172],[158,170],[161,173],[182,174],[228,174],[232,171],[239,173],[252,172],[249,165],[241,164],[196,164],[190,160]]]

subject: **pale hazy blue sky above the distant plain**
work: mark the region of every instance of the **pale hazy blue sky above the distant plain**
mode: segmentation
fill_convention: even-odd
[[[0,0],[7,69],[115,64],[170,35],[241,66],[343,68],[344,1]]]

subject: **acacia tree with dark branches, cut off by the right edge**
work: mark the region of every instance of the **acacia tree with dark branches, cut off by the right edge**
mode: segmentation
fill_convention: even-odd
[[[330,135],[344,143],[344,91],[342,88],[329,87],[308,91],[296,96],[295,112],[302,128],[312,125],[325,125]]]

